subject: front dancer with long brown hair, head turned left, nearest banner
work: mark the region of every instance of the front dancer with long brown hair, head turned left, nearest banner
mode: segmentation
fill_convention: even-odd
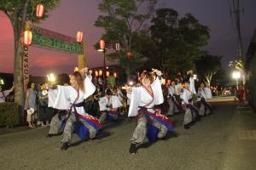
[[[84,111],[84,99],[87,99],[96,90],[90,82],[90,78],[86,76],[87,72],[88,69],[84,68],[80,72],[75,71],[70,75],[71,86],[58,85],[54,103],[49,104],[58,110],[69,110],[61,140],[63,143],[61,150],[67,150],[68,144],[72,141],[75,122],[80,123],[84,127],[84,131],[89,132],[90,139],[95,139],[96,133],[102,128],[101,122],[96,117],[90,116]]]

